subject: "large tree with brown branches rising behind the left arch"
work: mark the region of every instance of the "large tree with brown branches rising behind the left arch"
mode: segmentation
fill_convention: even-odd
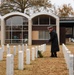
[[[24,12],[25,9],[34,7],[39,10],[40,7],[51,7],[49,0],[7,0],[0,6],[0,13],[9,13],[12,11]]]

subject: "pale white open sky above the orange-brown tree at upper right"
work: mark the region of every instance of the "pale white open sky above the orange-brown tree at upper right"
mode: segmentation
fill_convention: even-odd
[[[74,9],[74,0],[50,0],[52,4],[55,6],[61,6],[63,4],[71,4]]]

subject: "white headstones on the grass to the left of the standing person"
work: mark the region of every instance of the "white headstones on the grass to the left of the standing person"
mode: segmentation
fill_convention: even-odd
[[[46,44],[40,46],[32,47],[32,60],[38,57],[38,50],[42,53],[46,50]],[[0,48],[0,60],[3,60],[4,45]],[[26,64],[30,64],[30,48],[27,44],[24,46],[18,45],[18,69],[24,69],[24,52],[26,52]],[[6,75],[14,75],[14,56],[16,55],[16,46],[13,46],[13,54],[11,54],[10,46],[7,44],[7,57],[6,57]]]

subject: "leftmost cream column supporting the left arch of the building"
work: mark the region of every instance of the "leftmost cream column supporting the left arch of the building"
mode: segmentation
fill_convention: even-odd
[[[5,22],[1,19],[1,45],[5,44]]]

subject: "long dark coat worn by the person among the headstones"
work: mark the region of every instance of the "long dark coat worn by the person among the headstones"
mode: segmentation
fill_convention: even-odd
[[[50,32],[50,37],[49,42],[51,42],[51,52],[59,51],[58,37],[54,30]]]

